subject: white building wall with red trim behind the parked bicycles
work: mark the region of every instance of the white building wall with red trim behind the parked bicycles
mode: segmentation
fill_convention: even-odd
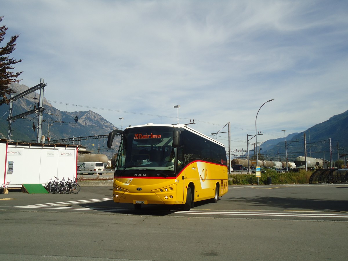
[[[8,169],[13,161],[12,173]],[[29,146],[0,143],[0,180],[10,181],[9,188],[21,188],[22,184],[45,184],[50,178],[73,179],[77,173],[77,148]]]

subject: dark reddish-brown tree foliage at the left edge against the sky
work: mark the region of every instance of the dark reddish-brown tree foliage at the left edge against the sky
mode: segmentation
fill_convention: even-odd
[[[0,16],[0,23],[2,19],[3,16]],[[6,25],[0,26],[0,43],[4,40],[7,29]],[[22,60],[17,61],[9,57],[9,55],[16,50],[16,40],[18,37],[19,34],[12,36],[4,47],[0,47],[0,105],[4,103],[9,104],[6,94],[15,93],[14,90],[9,88],[9,84],[21,81],[17,78],[22,72],[13,72],[15,69],[13,65],[22,62]]]

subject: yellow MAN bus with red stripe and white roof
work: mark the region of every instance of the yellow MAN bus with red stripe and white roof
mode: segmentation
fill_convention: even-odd
[[[146,124],[113,130],[121,134],[113,180],[113,200],[132,203],[181,205],[216,203],[228,191],[226,150],[223,144],[187,125]]]

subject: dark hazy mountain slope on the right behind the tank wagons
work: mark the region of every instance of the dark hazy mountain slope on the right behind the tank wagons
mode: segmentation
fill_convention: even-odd
[[[307,157],[330,160],[331,139],[332,160],[337,160],[338,154],[348,154],[347,130],[348,110],[332,116],[330,119],[316,124],[304,132],[287,135],[286,152],[288,160],[294,161],[296,157],[304,156],[304,133],[306,133]],[[268,140],[262,143],[260,148],[261,154],[265,158],[274,157],[275,155],[277,157],[279,155],[281,160],[285,159],[284,138]]]

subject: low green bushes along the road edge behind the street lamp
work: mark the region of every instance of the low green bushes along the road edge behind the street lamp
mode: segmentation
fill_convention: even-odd
[[[261,173],[259,184],[267,184],[267,177],[272,178],[272,184],[309,184],[311,171],[301,169],[299,172],[277,173],[275,170],[268,169],[266,173]],[[257,184],[255,174],[231,174],[228,175],[229,185],[255,185]]]

